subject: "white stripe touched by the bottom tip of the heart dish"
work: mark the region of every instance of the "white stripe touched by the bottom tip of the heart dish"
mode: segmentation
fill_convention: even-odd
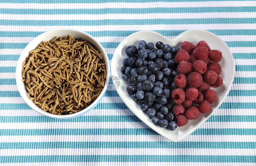
[[[40,135],[40,136],[0,136],[0,142],[143,142],[169,140],[161,135]],[[189,135],[181,142],[255,142],[255,135]]]

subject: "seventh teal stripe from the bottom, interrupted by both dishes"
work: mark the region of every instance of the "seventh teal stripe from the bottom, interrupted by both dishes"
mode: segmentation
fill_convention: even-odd
[[[256,77],[235,77],[233,83],[254,84]],[[0,85],[16,85],[15,79],[2,79],[0,78]]]

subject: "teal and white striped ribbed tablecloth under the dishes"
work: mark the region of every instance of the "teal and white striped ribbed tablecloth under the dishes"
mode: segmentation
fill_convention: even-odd
[[[243,0],[0,0],[0,165],[255,165],[255,6]],[[111,90],[83,116],[45,117],[21,98],[15,68],[32,39],[56,28],[96,37],[110,64],[134,32],[172,39],[208,30],[230,47],[235,79],[219,109],[180,142],[150,129]]]

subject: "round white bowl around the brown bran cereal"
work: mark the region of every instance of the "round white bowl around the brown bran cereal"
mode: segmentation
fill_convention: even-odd
[[[56,115],[56,114],[51,114],[49,112],[43,111],[32,100],[29,100],[29,98],[27,97],[28,93],[25,88],[25,84],[22,81],[22,63],[26,59],[26,57],[29,55],[29,52],[34,50],[38,46],[38,44],[41,43],[41,41],[51,41],[55,36],[65,37],[68,35],[72,35],[75,39],[81,39],[81,38],[85,39],[86,41],[88,41],[90,44],[92,44],[96,49],[98,49],[102,53],[105,63],[106,63],[107,79],[106,79],[104,88],[103,88],[102,92],[100,93],[99,97],[93,103],[91,103],[90,106],[88,106],[87,108],[85,108],[79,112],[73,113],[73,114]],[[41,34],[41,35],[37,36],[35,39],[33,39],[21,53],[21,56],[18,60],[17,67],[16,67],[16,83],[18,86],[18,91],[21,94],[21,97],[25,100],[25,102],[33,110],[37,111],[40,114],[46,115],[48,117],[53,117],[53,118],[73,118],[73,117],[77,117],[82,114],[85,114],[88,111],[90,111],[91,109],[93,109],[99,103],[99,101],[102,99],[102,97],[104,96],[104,94],[107,90],[107,85],[109,83],[109,79],[108,79],[109,76],[110,76],[110,65],[109,65],[107,53],[105,52],[103,46],[93,36],[89,35],[88,33],[85,33],[80,30],[67,29],[67,28],[50,30],[48,32],[44,32],[43,34]]]

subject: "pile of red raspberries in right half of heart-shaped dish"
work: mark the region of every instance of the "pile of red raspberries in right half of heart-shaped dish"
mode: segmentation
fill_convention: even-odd
[[[172,91],[175,103],[173,113],[177,119],[177,126],[184,126],[188,120],[195,120],[201,113],[211,110],[211,104],[217,101],[216,91],[222,85],[221,65],[222,58],[219,50],[211,50],[205,41],[196,45],[185,41],[175,56],[178,64],[174,83],[178,87]]]

